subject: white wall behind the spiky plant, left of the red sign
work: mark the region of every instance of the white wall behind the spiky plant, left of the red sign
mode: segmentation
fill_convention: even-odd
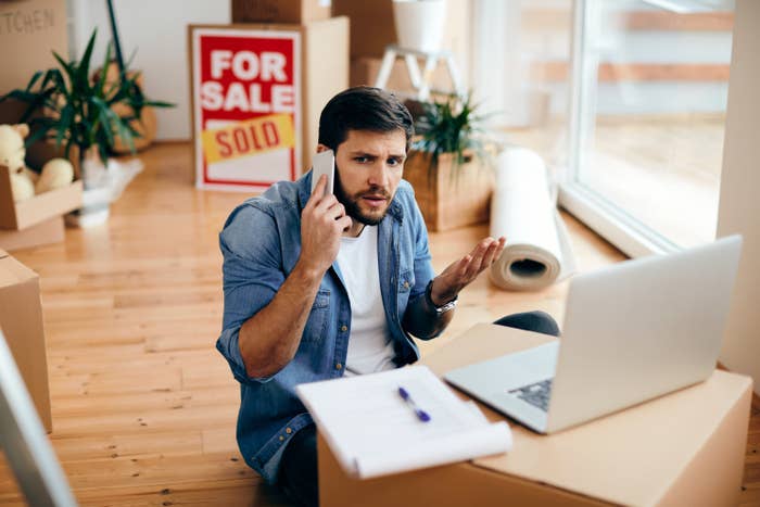
[[[111,25],[104,1],[72,0],[69,34],[72,56],[81,55],[92,28],[98,28],[94,62],[101,64]],[[229,1],[210,0],[113,0],[122,52],[127,60],[134,51],[131,67],[141,69],[145,94],[177,104],[159,110],[159,139],[189,139],[190,77],[187,51],[187,25],[227,24]]]

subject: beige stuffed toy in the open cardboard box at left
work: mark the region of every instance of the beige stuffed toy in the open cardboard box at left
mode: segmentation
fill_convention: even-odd
[[[30,199],[35,193],[66,187],[74,180],[74,167],[65,159],[52,159],[42,167],[42,175],[26,167],[24,138],[29,135],[26,124],[0,125],[0,164],[11,172],[14,202]]]

